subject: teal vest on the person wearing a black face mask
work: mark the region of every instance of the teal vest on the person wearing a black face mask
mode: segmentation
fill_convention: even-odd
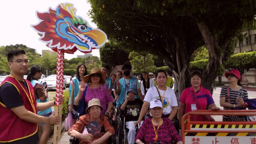
[[[127,89],[125,88],[124,77],[119,80],[119,83],[120,83],[120,91],[121,92],[120,92],[119,100],[116,102],[117,107],[120,107],[120,105],[123,104],[124,100],[126,100],[126,97],[127,97]],[[137,90],[137,80],[135,77],[131,77],[131,79],[130,79],[128,90],[130,88],[134,88]],[[135,95],[135,99],[139,99],[138,95]]]

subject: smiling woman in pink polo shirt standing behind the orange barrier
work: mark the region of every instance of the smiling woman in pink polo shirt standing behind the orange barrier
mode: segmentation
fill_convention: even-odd
[[[209,90],[205,89],[201,85],[202,74],[199,71],[191,73],[191,87],[186,88],[180,95],[180,107],[178,111],[178,119],[181,124],[181,118],[183,114],[186,114],[192,110],[205,110],[206,107],[211,110],[221,110],[218,108]],[[185,113],[184,113],[185,110]],[[191,116],[190,121],[203,121],[203,116]]]

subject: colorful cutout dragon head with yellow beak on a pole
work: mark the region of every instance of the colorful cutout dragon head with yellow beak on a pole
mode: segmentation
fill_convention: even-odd
[[[70,3],[61,3],[55,10],[36,12],[39,22],[31,27],[41,36],[39,40],[47,43],[53,51],[62,49],[74,53],[78,49],[89,53],[99,49],[107,41],[107,35],[100,29],[92,28],[86,20],[75,14],[76,8]]]

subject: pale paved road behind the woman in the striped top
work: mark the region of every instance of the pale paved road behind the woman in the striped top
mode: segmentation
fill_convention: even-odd
[[[213,100],[216,104],[217,107],[223,109],[223,107],[220,107],[220,91],[221,88],[217,87],[212,94]],[[248,91],[248,97],[249,99],[254,99],[256,98],[256,92],[254,91]],[[222,116],[213,116],[215,121],[222,121]]]

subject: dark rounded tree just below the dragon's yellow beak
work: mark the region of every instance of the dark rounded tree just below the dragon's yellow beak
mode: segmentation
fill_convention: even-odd
[[[125,48],[115,42],[107,42],[100,48],[100,60],[112,67],[112,69],[118,65],[129,63],[129,53],[124,50]]]

